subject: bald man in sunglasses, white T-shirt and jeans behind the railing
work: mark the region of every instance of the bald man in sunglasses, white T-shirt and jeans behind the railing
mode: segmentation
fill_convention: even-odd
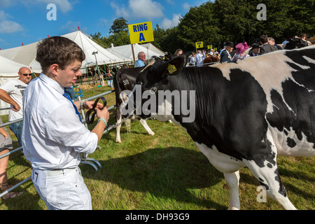
[[[19,78],[8,80],[0,87],[0,99],[11,104],[8,115],[8,121],[19,120],[23,118],[22,97],[25,88],[31,81],[31,70],[22,67],[18,71]],[[20,146],[22,146],[22,121],[11,124],[10,130],[15,134]]]

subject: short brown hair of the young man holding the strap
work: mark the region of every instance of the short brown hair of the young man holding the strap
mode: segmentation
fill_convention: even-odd
[[[69,64],[82,62],[84,59],[85,53],[79,45],[66,37],[52,36],[37,45],[36,61],[41,64],[44,73],[52,64],[58,64],[61,69],[65,69]]]

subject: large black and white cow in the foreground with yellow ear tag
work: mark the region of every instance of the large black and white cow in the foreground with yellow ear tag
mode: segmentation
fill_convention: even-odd
[[[137,113],[142,118],[171,118],[187,130],[223,172],[230,188],[229,209],[240,208],[242,167],[248,167],[285,209],[295,209],[281,183],[276,156],[315,155],[315,46],[209,67],[185,64],[182,56],[169,62],[157,58],[141,71]],[[173,98],[158,100],[167,91]],[[180,98],[175,99],[174,92]],[[179,102],[190,105],[195,115],[179,109]]]

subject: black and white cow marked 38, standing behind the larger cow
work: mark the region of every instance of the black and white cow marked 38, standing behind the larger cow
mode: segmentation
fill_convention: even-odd
[[[144,68],[142,68],[144,69]],[[123,120],[123,116],[120,110],[120,106],[127,99],[127,95],[122,94],[124,90],[132,90],[134,85],[136,84],[136,78],[139,72],[142,70],[140,68],[127,68],[127,69],[119,69],[119,73],[117,72],[113,76],[113,84],[115,87],[116,94],[116,142],[120,143],[120,127]],[[127,116],[125,116],[127,117]],[[155,133],[148,127],[146,120],[139,118],[141,125],[144,126],[148,134],[154,135]],[[125,120],[125,124],[127,126],[127,131],[130,132],[130,119]]]

